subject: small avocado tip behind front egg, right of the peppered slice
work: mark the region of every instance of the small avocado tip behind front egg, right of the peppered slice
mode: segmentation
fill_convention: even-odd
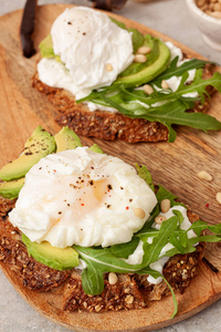
[[[80,137],[67,126],[63,127],[56,135],[54,135],[54,139],[56,143],[56,153],[82,146]]]

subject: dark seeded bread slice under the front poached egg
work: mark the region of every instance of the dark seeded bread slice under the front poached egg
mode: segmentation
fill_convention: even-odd
[[[14,283],[21,280],[31,291],[52,292],[62,297],[63,310],[86,310],[94,312],[118,311],[122,309],[140,309],[148,302],[160,300],[170,293],[162,281],[150,284],[147,276],[117,274],[117,282],[110,284],[108,273],[104,276],[105,289],[99,295],[87,295],[82,289],[81,272],[76,269],[57,271],[29,257],[21,234],[8,219],[8,212],[13,208],[14,200],[0,198],[0,264],[7,264],[14,272]],[[191,222],[198,216],[188,210]],[[199,243],[197,250],[188,255],[176,255],[164,267],[164,274],[175,291],[182,293],[191,279],[197,274],[197,266],[201,261],[204,243]]]

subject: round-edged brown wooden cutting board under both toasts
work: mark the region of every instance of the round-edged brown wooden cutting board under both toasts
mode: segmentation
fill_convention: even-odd
[[[66,8],[65,4],[39,7],[34,31],[34,44],[49,33],[54,19]],[[136,22],[112,14],[129,27],[143,33],[170,40]],[[23,144],[38,125],[55,134],[60,127],[53,118],[55,108],[46,97],[31,86],[38,55],[31,59],[22,56],[19,28],[22,11],[15,11],[0,18],[0,167],[18,157]],[[183,52],[200,56],[190,49],[172,41]],[[219,70],[219,69],[218,69]],[[209,114],[221,121],[221,95],[212,97]],[[221,132],[203,133],[197,129],[179,127],[175,143],[127,144],[120,141],[102,142],[81,137],[83,144],[97,143],[104,152],[119,156],[131,165],[145,164],[152,174],[154,181],[162,184],[176,194],[193,211],[209,222],[221,222],[221,205],[215,194],[221,190]],[[206,169],[213,180],[207,183],[197,177]],[[206,257],[221,271],[221,245],[209,245]],[[199,276],[192,280],[183,295],[178,297],[179,313],[170,320],[172,313],[171,297],[152,302],[148,309],[92,314],[87,312],[63,312],[61,295],[46,292],[36,293],[27,290],[15,274],[6,266],[1,268],[17,291],[36,311],[50,320],[75,331],[152,331],[181,321],[221,298],[221,272],[214,273],[204,262],[199,267]]]

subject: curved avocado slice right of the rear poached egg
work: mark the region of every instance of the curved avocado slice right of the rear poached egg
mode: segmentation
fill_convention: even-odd
[[[157,56],[156,61],[154,61],[150,65],[145,66],[141,71],[135,72],[134,74],[126,76],[119,75],[113,83],[113,85],[124,84],[125,87],[140,86],[161,74],[167,69],[167,65],[169,63],[170,51],[167,45],[160,40],[158,40],[158,48],[159,56]]]

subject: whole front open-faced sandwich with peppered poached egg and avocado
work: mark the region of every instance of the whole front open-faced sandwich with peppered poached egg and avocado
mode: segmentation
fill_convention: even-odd
[[[182,293],[204,242],[220,240],[221,225],[154,186],[145,166],[82,146],[69,127],[38,127],[0,178],[0,264],[33,292],[60,287],[63,310],[140,309]]]

